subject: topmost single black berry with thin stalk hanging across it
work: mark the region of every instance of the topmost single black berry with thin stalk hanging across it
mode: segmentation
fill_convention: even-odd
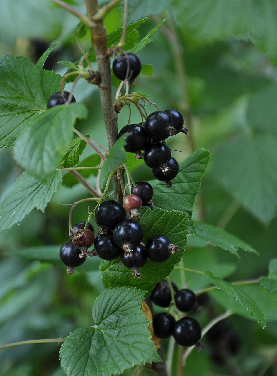
[[[127,55],[127,56],[126,56]],[[128,71],[129,62],[129,71]],[[131,52],[117,55],[113,61],[113,73],[118,79],[132,81],[140,74],[142,64],[140,59]]]

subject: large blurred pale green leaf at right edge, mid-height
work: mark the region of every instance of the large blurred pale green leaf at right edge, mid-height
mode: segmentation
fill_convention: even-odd
[[[260,222],[268,224],[277,209],[277,139],[255,134],[228,142],[215,153],[214,176]]]

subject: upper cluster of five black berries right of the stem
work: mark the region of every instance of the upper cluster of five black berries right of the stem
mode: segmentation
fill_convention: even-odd
[[[129,133],[124,138],[126,152],[135,153],[136,158],[143,158],[145,164],[152,168],[156,179],[166,182],[167,186],[172,186],[171,180],[177,176],[179,165],[171,156],[169,147],[161,141],[179,132],[188,134],[187,131],[184,128],[184,117],[181,112],[168,109],[152,112],[143,126],[141,124],[126,125],[120,130],[119,137]]]

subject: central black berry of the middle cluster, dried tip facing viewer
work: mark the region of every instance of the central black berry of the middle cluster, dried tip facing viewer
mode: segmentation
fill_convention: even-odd
[[[140,244],[142,238],[142,226],[133,219],[125,219],[114,227],[114,243],[125,250],[125,253],[132,252],[132,249]]]

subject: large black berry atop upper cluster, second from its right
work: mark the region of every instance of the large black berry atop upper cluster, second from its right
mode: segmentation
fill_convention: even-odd
[[[145,129],[150,138],[160,141],[176,135],[172,118],[164,111],[152,112],[145,120]]]

